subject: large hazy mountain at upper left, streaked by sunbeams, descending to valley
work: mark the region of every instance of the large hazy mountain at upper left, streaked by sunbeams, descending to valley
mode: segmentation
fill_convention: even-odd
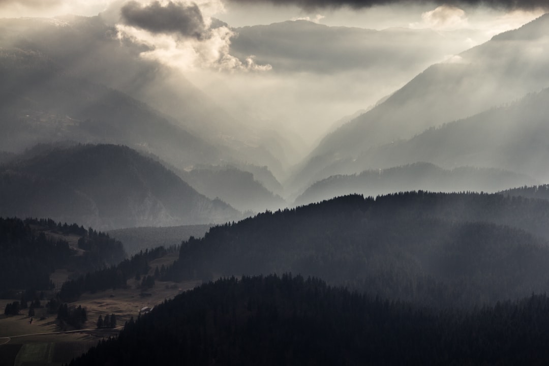
[[[253,123],[241,120],[241,116],[229,115],[180,72],[141,57],[141,53],[150,49],[134,41],[119,35],[118,30],[105,24],[101,16],[0,19],[0,68],[3,69],[2,80],[5,80],[4,92],[13,94],[10,99],[38,104],[37,110],[30,112],[16,109],[15,116],[40,118],[42,125],[55,125],[55,122],[71,125],[72,122],[78,126],[79,121],[73,120],[92,120],[94,124],[100,120],[109,126],[116,120],[121,124],[116,128],[128,134],[132,134],[130,122],[133,119],[138,125],[143,120],[150,120],[151,131],[138,131],[152,134],[150,142],[116,140],[116,137],[78,141],[115,142],[131,147],[150,144],[150,151],[167,161],[175,160],[174,155],[183,156],[183,159],[188,156],[187,160],[195,164],[219,164],[220,159],[250,161],[282,172],[284,167],[275,156],[285,159],[277,146],[288,144],[282,136],[272,136],[267,142],[262,131],[254,129]],[[31,55],[38,60],[29,60]],[[23,65],[20,65],[21,61],[24,61]],[[31,63],[30,67],[25,63]],[[18,72],[21,69],[31,69],[32,73]],[[5,95],[2,97],[4,102]],[[10,105],[8,102],[13,103],[10,99],[6,100],[4,108]],[[141,103],[137,107],[137,100],[146,105]],[[114,109],[111,103],[121,105],[120,109]],[[128,103],[133,104],[130,110]],[[24,106],[29,109],[28,103]],[[102,109],[105,109],[104,113],[100,114]],[[164,126],[166,122],[170,122],[169,128]],[[155,126],[158,126],[158,132],[154,131]],[[100,125],[93,132],[102,129],[106,130],[104,132],[111,130]],[[158,144],[155,134],[163,133],[167,138],[164,144]],[[141,139],[145,138],[148,135],[141,134]],[[178,150],[186,151],[182,154]]]

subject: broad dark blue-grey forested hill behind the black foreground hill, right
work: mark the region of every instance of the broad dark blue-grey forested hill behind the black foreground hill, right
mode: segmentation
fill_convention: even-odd
[[[166,279],[292,272],[390,299],[490,303],[549,290],[547,222],[549,202],[498,194],[343,196],[214,227],[183,243]]]

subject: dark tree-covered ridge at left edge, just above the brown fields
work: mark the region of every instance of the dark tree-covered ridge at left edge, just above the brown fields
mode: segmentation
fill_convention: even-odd
[[[77,245],[69,244],[68,235],[79,238]],[[55,269],[92,271],[125,257],[120,241],[92,228],[0,217],[0,291],[51,289]]]

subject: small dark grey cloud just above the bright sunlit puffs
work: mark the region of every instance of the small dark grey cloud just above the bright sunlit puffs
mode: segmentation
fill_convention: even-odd
[[[121,11],[125,24],[152,33],[179,33],[183,37],[204,38],[206,26],[197,4],[155,1],[143,7],[136,1],[126,3]]]

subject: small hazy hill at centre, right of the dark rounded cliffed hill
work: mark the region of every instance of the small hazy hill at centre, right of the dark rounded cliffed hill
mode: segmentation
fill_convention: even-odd
[[[234,167],[203,167],[182,172],[181,177],[201,194],[219,198],[239,211],[262,212],[286,206],[281,196],[267,190],[254,174]]]

